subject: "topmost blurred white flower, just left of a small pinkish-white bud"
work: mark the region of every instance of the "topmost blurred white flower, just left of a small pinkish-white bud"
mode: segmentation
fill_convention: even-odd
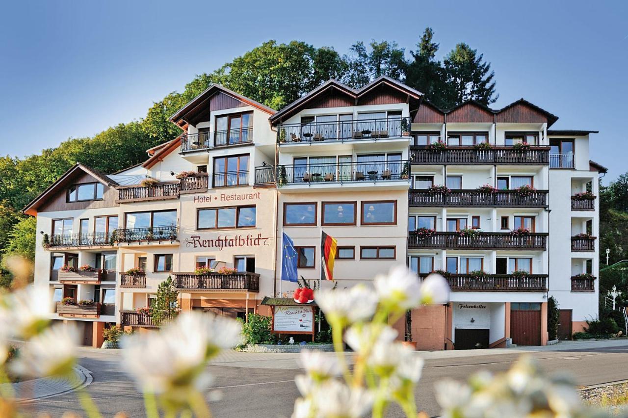
[[[419,278],[406,267],[393,267],[387,276],[376,276],[374,285],[384,306],[408,310],[421,304]]]

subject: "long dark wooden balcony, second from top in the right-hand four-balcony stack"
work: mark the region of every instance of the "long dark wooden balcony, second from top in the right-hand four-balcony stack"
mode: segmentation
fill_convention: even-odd
[[[487,193],[479,190],[451,190],[434,193],[428,189],[410,189],[410,206],[475,206],[501,208],[546,208],[548,190],[536,190],[521,196],[516,190],[498,190]]]

